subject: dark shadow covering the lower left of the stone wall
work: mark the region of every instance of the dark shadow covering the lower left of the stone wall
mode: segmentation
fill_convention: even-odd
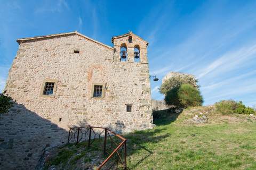
[[[35,169],[46,148],[64,145],[68,138],[67,129],[15,102],[0,114],[0,129],[0,169]]]

